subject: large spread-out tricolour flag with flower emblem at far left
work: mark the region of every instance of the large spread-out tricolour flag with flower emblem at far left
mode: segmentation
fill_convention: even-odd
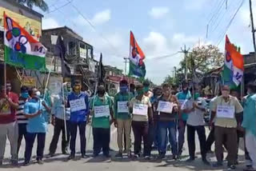
[[[4,14],[5,62],[27,70],[46,70],[46,48]]]

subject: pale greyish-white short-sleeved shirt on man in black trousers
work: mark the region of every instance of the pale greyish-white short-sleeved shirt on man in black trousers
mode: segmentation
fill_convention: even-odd
[[[182,109],[192,109],[193,108],[193,100],[186,100],[182,105]],[[200,108],[206,109],[207,102],[204,98],[198,97],[198,100],[195,101],[198,103]],[[198,125],[205,125],[204,121],[204,113],[201,109],[194,109],[193,112],[188,113],[188,119],[186,121],[187,125],[198,126]]]

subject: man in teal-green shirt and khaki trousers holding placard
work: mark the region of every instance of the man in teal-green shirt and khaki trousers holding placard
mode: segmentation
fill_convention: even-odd
[[[128,102],[133,98],[133,94],[128,92],[128,82],[122,80],[120,82],[120,92],[114,96],[114,119],[115,126],[118,128],[118,148],[119,152],[116,157],[122,157],[123,145],[122,136],[126,138],[126,152],[130,157],[130,129],[131,129],[131,115],[128,109]]]

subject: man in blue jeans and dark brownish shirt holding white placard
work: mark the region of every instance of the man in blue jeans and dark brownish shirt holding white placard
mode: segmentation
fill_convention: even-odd
[[[176,140],[176,122],[175,119],[178,113],[178,99],[170,92],[170,85],[162,85],[162,96],[158,97],[158,102],[155,108],[157,109],[158,118],[158,152],[159,159],[166,156],[167,131],[169,130],[169,140],[174,159],[177,159],[178,148]]]

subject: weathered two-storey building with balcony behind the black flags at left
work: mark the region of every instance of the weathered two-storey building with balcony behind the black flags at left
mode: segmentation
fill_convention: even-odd
[[[83,38],[67,26],[42,30],[42,44],[47,48],[46,60],[47,66],[58,73],[61,73],[62,66],[60,58],[54,57],[53,38],[58,35],[63,38],[66,47],[65,61],[70,67],[70,74],[82,78],[82,82],[91,87],[91,79],[95,78],[94,47],[83,41]],[[54,57],[54,64],[50,65]],[[51,66],[51,67],[50,67]]]

